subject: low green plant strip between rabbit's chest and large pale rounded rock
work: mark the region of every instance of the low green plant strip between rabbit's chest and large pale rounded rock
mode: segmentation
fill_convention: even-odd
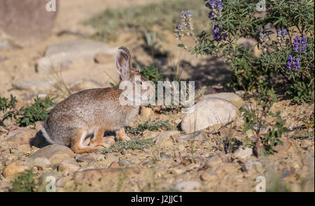
[[[148,122],[139,124],[137,128],[126,128],[126,131],[129,133],[141,133],[143,131],[149,130],[149,131],[158,131],[160,128],[165,128],[167,130],[174,130],[174,126],[169,124],[168,122],[163,122],[159,120],[158,122],[149,124]]]

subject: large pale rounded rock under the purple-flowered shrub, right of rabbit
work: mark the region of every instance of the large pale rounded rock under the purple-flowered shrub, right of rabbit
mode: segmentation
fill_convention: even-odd
[[[215,97],[200,101],[187,112],[181,122],[181,128],[185,133],[193,133],[215,124],[232,122],[237,117],[235,105]]]

